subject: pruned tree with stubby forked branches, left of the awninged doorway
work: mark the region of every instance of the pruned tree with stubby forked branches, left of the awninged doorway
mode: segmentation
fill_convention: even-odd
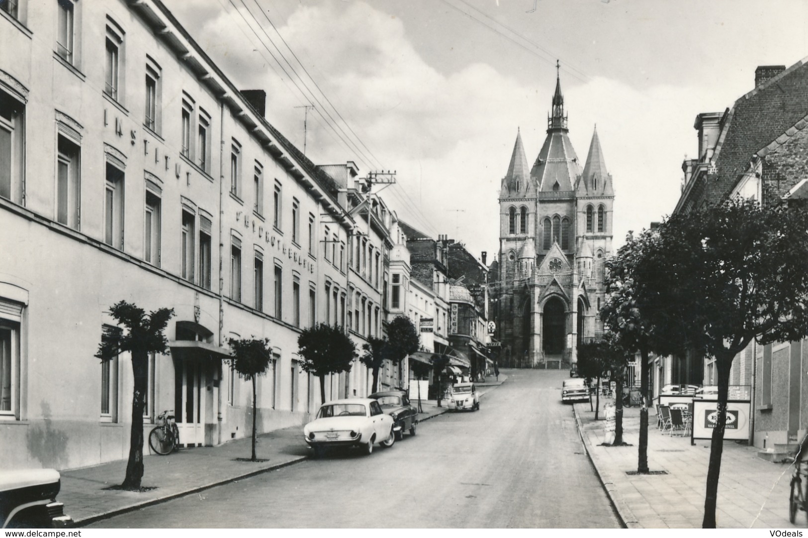
[[[120,487],[137,491],[141,489],[143,479],[143,408],[149,384],[149,354],[168,351],[165,330],[168,320],[174,316],[174,309],[159,308],[147,315],[133,303],[120,301],[109,310],[118,326],[104,325],[95,357],[106,362],[126,351],[132,354],[132,427],[126,476]]]

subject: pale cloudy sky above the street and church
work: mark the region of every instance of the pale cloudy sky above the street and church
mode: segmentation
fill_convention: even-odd
[[[318,164],[354,161],[400,218],[475,256],[499,249],[517,129],[545,138],[560,62],[570,140],[595,125],[616,191],[614,246],[661,220],[695,157],[693,121],[808,57],[804,0],[164,0],[267,120]],[[314,105],[314,109],[302,108]]]

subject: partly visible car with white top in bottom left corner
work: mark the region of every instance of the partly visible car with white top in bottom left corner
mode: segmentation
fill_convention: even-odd
[[[2,528],[72,526],[73,519],[56,500],[60,488],[61,478],[54,469],[0,472]]]

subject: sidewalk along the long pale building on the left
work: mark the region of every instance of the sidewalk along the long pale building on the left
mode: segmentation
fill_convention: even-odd
[[[502,384],[505,377],[500,375],[499,383],[481,388],[481,396]],[[418,405],[417,400],[413,405]],[[445,401],[442,405],[438,407],[436,400],[421,400],[423,413],[419,413],[419,421],[446,413]],[[259,460],[265,460],[261,462],[238,460],[250,458],[252,440],[249,437],[218,447],[181,449],[167,456],[146,455],[142,485],[154,489],[141,493],[106,489],[124,481],[126,460],[61,471],[58,500],[64,503],[65,513],[74,519],[77,527],[81,527],[98,519],[307,460],[310,451],[302,439],[302,432],[303,426],[292,426],[260,434],[256,439],[255,455]]]

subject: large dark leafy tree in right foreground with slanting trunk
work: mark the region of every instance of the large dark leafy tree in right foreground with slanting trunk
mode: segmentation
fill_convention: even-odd
[[[642,316],[654,331],[669,338],[684,333],[688,347],[713,356],[718,369],[702,527],[716,523],[733,358],[753,340],[767,345],[808,336],[806,230],[805,210],[734,199],[667,218],[633,268]]]

